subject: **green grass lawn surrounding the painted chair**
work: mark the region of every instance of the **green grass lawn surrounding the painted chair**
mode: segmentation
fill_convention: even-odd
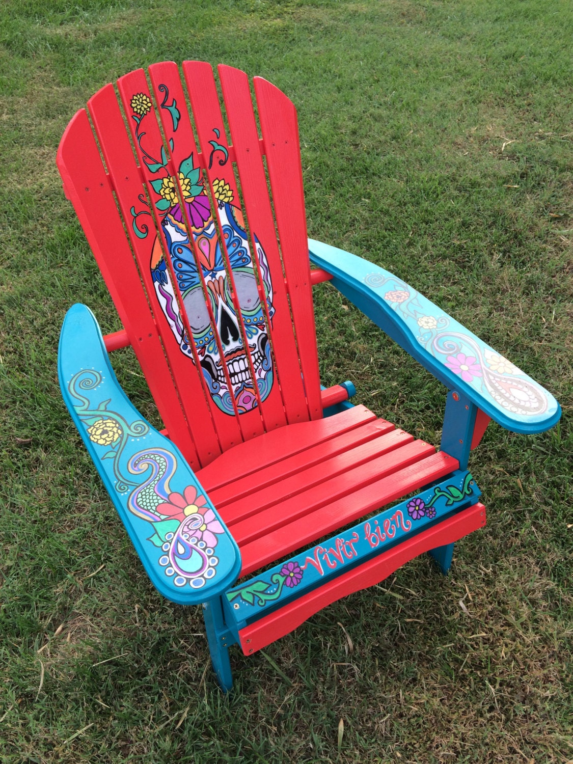
[[[0,761],[573,759],[572,34],[566,0],[2,5]],[[63,197],[60,135],[103,84],[184,58],[290,95],[309,234],[412,283],[565,414],[536,437],[487,431],[470,466],[488,525],[452,575],[419,558],[268,658],[233,649],[228,697],[199,610],[147,581],[56,371],[71,303],[118,329]],[[343,303],[317,288],[323,382],[351,378],[358,402],[439,442],[442,387]],[[113,360],[153,418],[131,351]]]

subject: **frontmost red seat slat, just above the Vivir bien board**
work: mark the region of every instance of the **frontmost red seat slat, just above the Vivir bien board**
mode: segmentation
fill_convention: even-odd
[[[241,576],[248,575],[269,562],[274,562],[283,555],[288,555],[295,549],[300,549],[321,536],[384,507],[391,501],[401,499],[410,491],[419,490],[432,481],[444,478],[457,468],[457,459],[443,452],[432,454],[422,461],[416,461],[319,509],[308,510],[302,522],[296,518],[293,522],[266,533],[254,542],[239,544],[243,563]],[[272,522],[274,507],[267,510],[266,515],[270,516]],[[266,522],[267,517],[262,517],[261,523]],[[235,529],[233,529],[233,536],[235,536]]]

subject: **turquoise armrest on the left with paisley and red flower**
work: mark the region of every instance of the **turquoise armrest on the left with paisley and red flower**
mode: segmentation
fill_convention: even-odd
[[[179,448],[146,422],[118,383],[85,305],[66,313],[63,400],[154,586],[199,604],[234,584],[241,555]]]

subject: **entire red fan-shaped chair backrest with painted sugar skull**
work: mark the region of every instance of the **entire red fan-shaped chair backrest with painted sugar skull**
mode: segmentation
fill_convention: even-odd
[[[209,63],[182,69],[122,76],[119,98],[104,86],[57,166],[167,431],[199,468],[322,406],[296,109],[255,77],[260,137],[244,72],[219,66],[219,99]]]

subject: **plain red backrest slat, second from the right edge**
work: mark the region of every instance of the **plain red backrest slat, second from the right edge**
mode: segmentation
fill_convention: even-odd
[[[275,314],[271,325],[271,338],[275,350],[280,386],[286,417],[290,424],[309,418],[303,379],[300,375],[299,356],[286,296],[283,266],[274,228],[273,211],[268,196],[267,178],[259,148],[257,125],[254,121],[251,90],[248,77],[231,66],[219,66],[219,77],[235,160],[241,180],[245,212],[251,231],[251,242],[257,251],[254,234],[264,247],[273,283]],[[259,279],[261,280],[261,279]],[[268,323],[268,321],[267,321]]]

